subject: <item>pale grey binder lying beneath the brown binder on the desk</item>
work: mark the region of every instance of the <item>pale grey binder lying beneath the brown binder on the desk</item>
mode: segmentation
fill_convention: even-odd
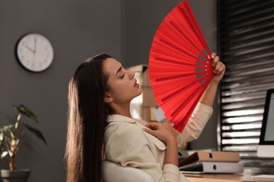
[[[181,173],[191,174],[231,174],[244,172],[244,165],[238,162],[195,162],[179,169]]]

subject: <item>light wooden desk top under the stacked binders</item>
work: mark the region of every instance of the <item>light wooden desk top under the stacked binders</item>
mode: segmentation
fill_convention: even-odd
[[[250,174],[183,174],[192,182],[242,182],[242,181],[260,181],[254,180]],[[270,182],[268,180],[268,182]]]

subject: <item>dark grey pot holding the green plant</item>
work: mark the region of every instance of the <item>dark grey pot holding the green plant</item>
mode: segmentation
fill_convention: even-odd
[[[1,177],[3,182],[27,182],[30,176],[30,169],[1,169]]]

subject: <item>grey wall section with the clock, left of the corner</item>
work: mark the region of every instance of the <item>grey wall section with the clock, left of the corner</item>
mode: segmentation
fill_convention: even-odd
[[[15,120],[11,104],[25,104],[39,118],[37,127],[48,141],[44,146],[32,137],[15,159],[18,168],[32,170],[30,182],[65,181],[67,84],[87,57],[109,52],[121,59],[121,3],[0,0],[0,123]],[[55,49],[53,64],[41,73],[26,71],[15,59],[18,38],[32,31],[50,38]]]

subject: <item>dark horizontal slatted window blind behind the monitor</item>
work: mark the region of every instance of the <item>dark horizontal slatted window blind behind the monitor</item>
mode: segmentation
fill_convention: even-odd
[[[226,64],[218,143],[252,165],[266,90],[274,88],[274,1],[218,0],[218,55]]]

